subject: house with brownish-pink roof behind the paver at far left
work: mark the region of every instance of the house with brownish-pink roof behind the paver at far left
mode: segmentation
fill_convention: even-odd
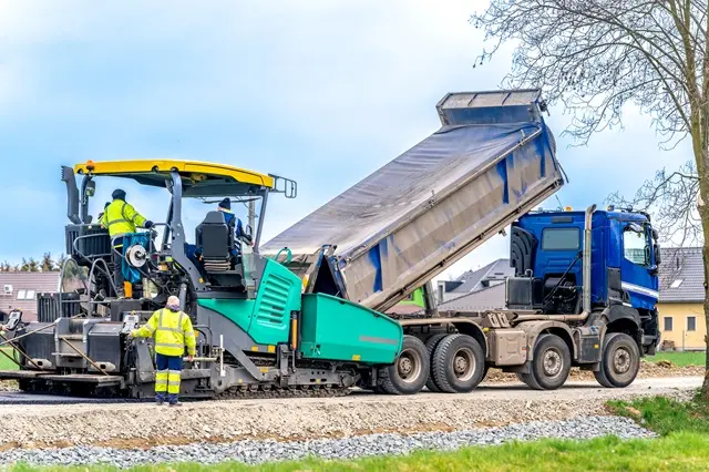
[[[22,310],[22,319],[37,320],[37,294],[58,291],[60,273],[0,273],[0,311]]]

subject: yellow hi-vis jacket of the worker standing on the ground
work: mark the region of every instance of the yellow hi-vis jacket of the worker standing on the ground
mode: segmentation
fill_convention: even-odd
[[[135,338],[155,335],[155,352],[163,356],[183,356],[185,347],[189,356],[195,355],[195,331],[192,320],[184,311],[166,308],[153,314],[147,324],[133,331]]]

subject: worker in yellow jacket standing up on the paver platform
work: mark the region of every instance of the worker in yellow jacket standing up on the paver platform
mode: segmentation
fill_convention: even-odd
[[[113,247],[113,281],[115,283],[116,296],[123,298],[125,294],[123,279],[123,236],[127,233],[135,233],[136,227],[150,229],[153,222],[145,219],[133,208],[133,205],[125,201],[125,192],[121,188],[113,191],[111,202],[99,219],[102,227],[109,229],[111,246]]]

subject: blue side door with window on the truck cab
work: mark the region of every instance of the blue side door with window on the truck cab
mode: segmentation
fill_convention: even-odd
[[[649,226],[619,222],[623,229],[621,288],[633,308],[653,309],[657,304],[658,278]]]

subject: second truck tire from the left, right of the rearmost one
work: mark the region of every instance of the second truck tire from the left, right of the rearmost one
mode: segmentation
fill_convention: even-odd
[[[473,391],[483,379],[484,369],[483,348],[471,336],[446,336],[433,351],[431,374],[435,386],[442,392]]]

